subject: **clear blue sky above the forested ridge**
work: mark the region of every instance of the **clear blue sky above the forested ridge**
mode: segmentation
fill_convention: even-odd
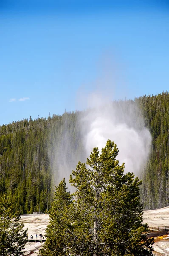
[[[167,0],[0,1],[0,125],[79,110],[98,84],[169,90]]]

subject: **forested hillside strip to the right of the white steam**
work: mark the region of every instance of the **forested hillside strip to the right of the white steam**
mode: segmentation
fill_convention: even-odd
[[[144,208],[169,206],[169,93],[135,99],[152,134],[149,160],[142,176]]]

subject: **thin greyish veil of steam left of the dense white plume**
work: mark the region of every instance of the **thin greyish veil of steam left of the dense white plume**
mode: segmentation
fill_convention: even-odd
[[[59,120],[56,120],[51,132],[51,145],[49,157],[54,175],[53,187],[58,186],[65,177],[70,192],[73,186],[69,184],[70,174],[76,169],[76,165],[82,160],[82,147],[79,138],[78,112],[65,112]],[[57,125],[58,124],[58,125]],[[83,161],[83,160],[82,160]]]

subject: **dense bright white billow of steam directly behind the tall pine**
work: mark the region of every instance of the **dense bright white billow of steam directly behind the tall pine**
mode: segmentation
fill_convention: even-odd
[[[82,139],[89,156],[93,147],[103,148],[108,139],[119,149],[119,163],[126,172],[138,175],[149,155],[151,135],[134,101],[112,102],[101,95],[90,95],[90,109],[81,118]]]

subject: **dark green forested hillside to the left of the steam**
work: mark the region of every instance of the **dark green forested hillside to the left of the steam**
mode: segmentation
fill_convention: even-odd
[[[47,212],[57,182],[54,159],[65,136],[79,151],[78,113],[48,119],[24,119],[0,126],[0,193],[7,193],[14,211]],[[55,180],[54,180],[55,177]],[[52,182],[53,180],[53,182]]]

